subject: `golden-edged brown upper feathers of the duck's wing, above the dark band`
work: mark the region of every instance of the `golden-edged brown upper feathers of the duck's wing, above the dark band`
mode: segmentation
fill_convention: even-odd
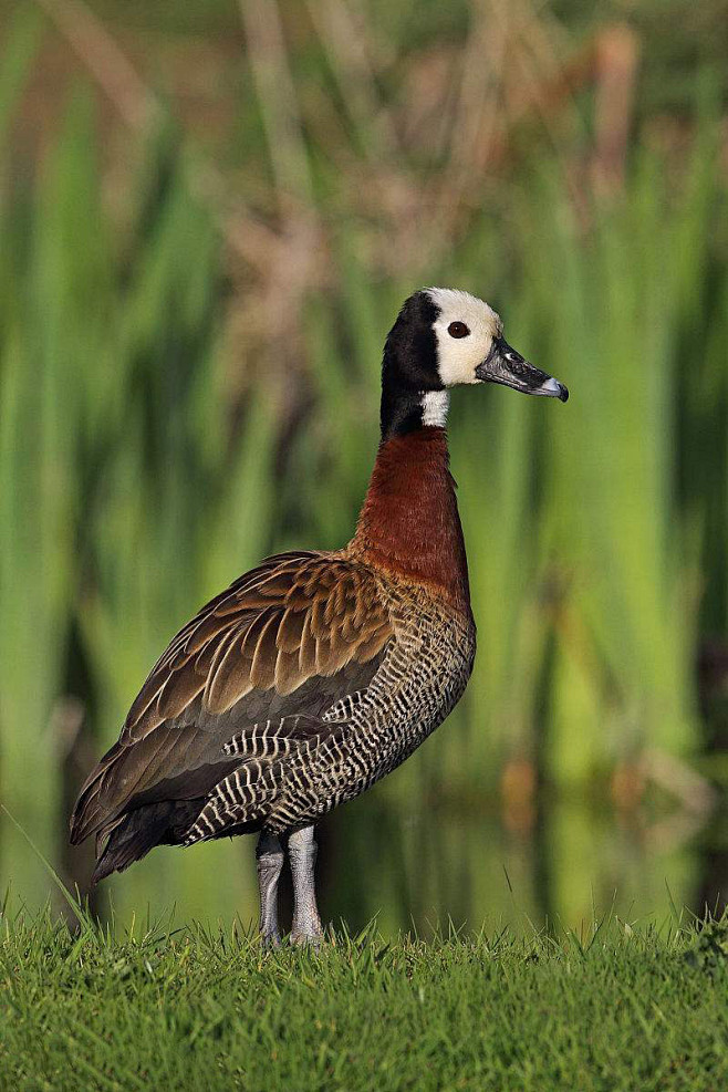
[[[311,675],[333,675],[350,659],[366,662],[391,635],[388,612],[365,566],[335,554],[283,554],[280,564],[270,559],[171,641],[129,710],[123,740],[139,738],[139,728],[152,730],[154,717],[141,721],[154,703],[158,724],[178,716],[200,691],[205,710],[222,714],[251,689],[274,688],[277,678],[291,693]]]

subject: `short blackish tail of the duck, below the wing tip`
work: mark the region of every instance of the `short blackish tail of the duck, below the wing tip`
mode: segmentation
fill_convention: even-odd
[[[205,798],[163,800],[155,804],[143,804],[128,812],[108,835],[91,877],[92,884],[104,880],[112,872],[128,869],[129,864],[146,856],[155,845],[179,844],[204,804]]]

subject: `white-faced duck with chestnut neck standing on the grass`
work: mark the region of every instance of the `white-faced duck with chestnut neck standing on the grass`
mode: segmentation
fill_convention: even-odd
[[[412,755],[472,669],[448,387],[569,397],[502,333],[467,292],[405,302],[384,346],[382,440],[354,538],[269,558],[173,638],[73,812],[71,841],[96,835],[93,882],[155,845],[258,833],[263,938],[279,939],[284,845],[291,939],[320,938],[314,823]]]

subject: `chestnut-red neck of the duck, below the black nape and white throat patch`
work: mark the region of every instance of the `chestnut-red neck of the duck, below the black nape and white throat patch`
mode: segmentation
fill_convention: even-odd
[[[468,564],[444,428],[425,425],[383,439],[350,550],[469,613]]]

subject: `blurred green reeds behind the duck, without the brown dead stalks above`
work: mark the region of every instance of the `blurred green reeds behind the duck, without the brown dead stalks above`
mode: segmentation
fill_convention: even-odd
[[[377,441],[384,334],[408,291],[454,283],[500,309],[509,340],[572,398],[454,397],[475,676],[447,727],[337,817],[346,839],[331,850],[330,908],[364,922],[384,907],[392,926],[413,906],[507,914],[513,897],[521,911],[589,912],[580,876],[607,843],[603,819],[566,795],[529,843],[493,817],[518,763],[587,793],[645,750],[689,759],[705,745],[696,646],[701,628],[725,626],[728,597],[726,189],[709,79],[677,183],[638,139],[622,191],[584,208],[558,162],[533,157],[506,218],[485,202],[447,259],[413,259],[406,281],[371,275],[360,221],[344,218],[335,287],[308,294],[303,353],[287,364],[306,391],[303,423],[283,431],[264,375],[231,416],[222,241],[173,132],[148,136],[123,246],[103,208],[87,90],[38,170],[13,163],[8,135],[35,41],[33,20],[18,19],[0,51],[3,802],[67,860],[79,739],[65,697],[83,703],[76,761],[87,769],[206,597],[268,552],[347,540]],[[324,160],[325,148],[311,150],[323,190]],[[46,877],[7,825],[3,875],[37,901]],[[112,883],[116,913],[155,899],[252,914],[241,841],[155,852]],[[680,860],[678,896],[691,882]],[[609,898],[609,852],[600,867]],[[665,867],[641,857],[634,890],[655,891]]]

